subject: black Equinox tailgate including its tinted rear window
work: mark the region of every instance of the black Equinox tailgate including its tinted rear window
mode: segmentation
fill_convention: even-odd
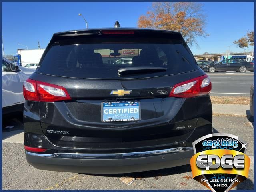
[[[117,64],[120,58],[132,58],[132,62]],[[60,34],[51,40],[39,66],[32,79],[62,86],[72,98],[40,102],[42,130],[52,142],[130,142],[169,137],[178,142],[186,140],[196,127],[198,98],[168,97],[175,84],[204,74],[179,33],[138,30],[109,36],[92,31],[79,36]],[[118,75],[120,68],[138,66],[167,70]],[[131,92],[111,94],[117,90]],[[124,101],[140,104],[140,120],[102,120],[102,103]],[[97,146],[108,148],[107,144]]]

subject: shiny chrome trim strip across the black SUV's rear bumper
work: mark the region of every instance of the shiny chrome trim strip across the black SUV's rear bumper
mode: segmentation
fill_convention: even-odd
[[[177,147],[163,150],[143,151],[143,152],[131,152],[131,153],[54,153],[54,154],[40,154],[25,151],[26,154],[38,157],[52,157],[52,158],[70,158],[70,159],[120,159],[120,158],[136,158],[136,157],[148,157],[156,155],[167,155],[171,153],[179,153],[184,151],[193,150],[192,147]]]

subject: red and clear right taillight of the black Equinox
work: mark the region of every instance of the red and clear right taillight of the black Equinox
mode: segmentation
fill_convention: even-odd
[[[208,75],[200,76],[174,85],[169,97],[190,98],[209,94],[212,83]]]

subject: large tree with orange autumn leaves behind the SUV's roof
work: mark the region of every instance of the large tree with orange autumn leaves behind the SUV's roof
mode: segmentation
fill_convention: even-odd
[[[197,44],[196,38],[206,37],[206,15],[197,2],[155,2],[146,15],[138,19],[139,28],[178,31],[187,44]]]

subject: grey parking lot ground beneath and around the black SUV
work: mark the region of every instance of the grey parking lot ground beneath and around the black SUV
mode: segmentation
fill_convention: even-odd
[[[247,155],[251,159],[249,178],[235,187],[254,189],[254,129],[252,118],[246,116],[213,116],[214,132],[237,135],[248,141]],[[190,165],[131,174],[79,174],[38,170],[26,162],[23,149],[23,128],[18,124],[3,130],[2,189],[4,190],[75,190],[75,189],[166,189],[206,190],[192,179]],[[122,176],[136,178],[127,185]]]

